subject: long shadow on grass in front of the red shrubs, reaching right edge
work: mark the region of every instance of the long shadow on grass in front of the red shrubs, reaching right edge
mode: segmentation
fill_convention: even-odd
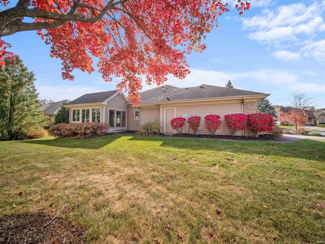
[[[159,141],[160,146],[191,150],[216,150],[265,156],[293,157],[325,161],[325,141],[304,139],[295,143],[264,141],[221,141],[193,138],[164,138],[135,136],[129,141]]]

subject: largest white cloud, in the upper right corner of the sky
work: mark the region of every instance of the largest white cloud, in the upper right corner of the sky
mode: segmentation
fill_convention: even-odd
[[[253,31],[249,38],[263,43],[296,41],[302,35],[325,31],[324,7],[323,2],[315,2],[308,7],[298,3],[280,6],[274,11],[266,9],[262,15],[244,19],[243,27]]]

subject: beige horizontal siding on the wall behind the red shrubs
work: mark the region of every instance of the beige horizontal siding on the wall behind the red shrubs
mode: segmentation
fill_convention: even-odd
[[[191,104],[169,104],[162,106],[161,121],[163,122],[163,132],[165,131],[165,108],[175,108],[176,117],[183,117],[183,114],[190,116],[201,116],[200,134],[209,134],[205,128],[204,117],[208,114],[217,114],[221,117],[221,127],[216,131],[216,135],[228,135],[229,130],[224,121],[224,115],[232,113],[242,113],[242,103],[240,100],[228,102],[202,102]],[[185,124],[185,133],[192,133],[189,131],[188,124]],[[241,135],[241,133],[238,133]]]

